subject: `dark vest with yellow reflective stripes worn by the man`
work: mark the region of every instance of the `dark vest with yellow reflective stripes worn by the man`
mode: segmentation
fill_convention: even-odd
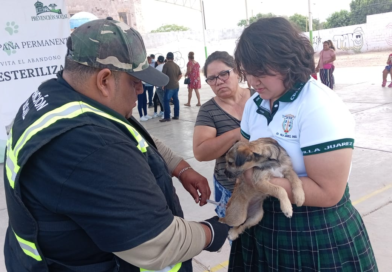
[[[37,92],[40,91],[38,90]],[[6,234],[4,254],[8,271],[48,271],[47,261],[37,242],[37,222],[21,198],[19,177],[21,171],[23,171],[24,164],[37,150],[54,137],[73,128],[72,125],[69,126],[70,120],[75,120],[75,126],[78,126],[79,124],[76,120],[83,114],[93,114],[94,116],[105,118],[112,123],[124,126],[129,135],[136,140],[137,148],[140,152],[146,153],[149,147],[147,141],[129,122],[110,115],[85,101],[72,101],[72,99],[67,99],[66,95],[64,98],[63,95],[63,103],[60,102],[58,105],[53,106],[48,105],[45,110],[42,110],[42,105],[45,105],[45,103],[41,101],[43,103],[41,108],[36,108],[34,100],[37,101],[38,96],[40,99],[45,97],[44,94],[37,94],[37,92],[19,110],[7,141],[4,178],[9,227]],[[26,105],[29,105],[31,108],[26,109]],[[34,113],[29,115],[29,110],[34,111]],[[42,112],[40,112],[41,110]],[[67,126],[62,126],[61,124],[65,120],[67,121]],[[19,131],[17,136],[15,135],[15,128]],[[179,272],[182,271],[181,268],[182,263],[178,263],[159,271]],[[136,267],[135,269],[137,271],[152,271]],[[92,265],[89,271],[121,271],[121,268],[119,268],[117,262],[112,262],[97,264],[96,266]]]

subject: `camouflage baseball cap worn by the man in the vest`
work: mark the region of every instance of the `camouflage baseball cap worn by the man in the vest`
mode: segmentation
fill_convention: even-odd
[[[169,78],[147,62],[140,34],[111,17],[87,22],[71,34],[68,58],[78,63],[123,71],[155,86],[165,86]]]

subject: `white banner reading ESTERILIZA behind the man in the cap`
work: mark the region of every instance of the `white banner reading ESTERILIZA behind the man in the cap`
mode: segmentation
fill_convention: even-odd
[[[65,0],[41,1],[0,0],[0,163],[5,127],[38,86],[64,65],[70,34]],[[36,102],[35,107],[45,106]]]

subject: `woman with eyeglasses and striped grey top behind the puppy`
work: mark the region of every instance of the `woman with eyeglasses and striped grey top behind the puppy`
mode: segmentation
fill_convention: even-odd
[[[197,115],[193,134],[193,153],[199,161],[215,161],[215,200],[226,205],[233,191],[235,179],[224,174],[225,155],[240,140],[240,123],[246,101],[254,93],[239,86],[235,62],[227,52],[216,51],[204,65],[206,82],[215,97],[204,103]],[[223,205],[224,206],[224,205]],[[225,209],[215,210],[223,217]]]

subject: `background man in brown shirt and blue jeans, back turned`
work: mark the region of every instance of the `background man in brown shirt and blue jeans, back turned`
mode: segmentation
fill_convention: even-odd
[[[174,104],[174,117],[173,120],[178,120],[180,116],[180,101],[178,101],[178,90],[180,89],[180,84],[178,83],[182,77],[180,67],[173,61],[174,54],[172,52],[166,55],[167,62],[162,68],[162,73],[169,77],[169,83],[163,88],[163,108],[165,118],[159,120],[159,122],[169,122],[170,118],[170,99],[173,98]]]

